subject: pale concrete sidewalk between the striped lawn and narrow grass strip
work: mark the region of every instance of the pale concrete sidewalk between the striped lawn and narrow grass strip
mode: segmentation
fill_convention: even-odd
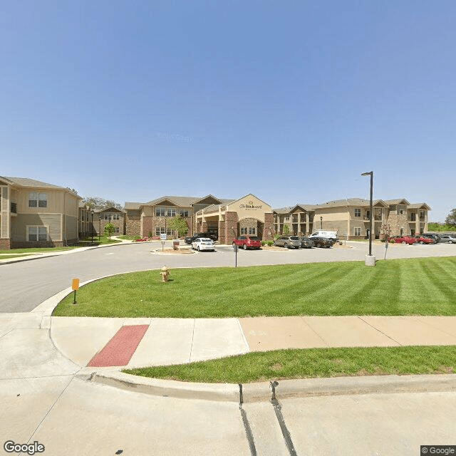
[[[109,346],[120,330],[145,328],[128,361]],[[78,366],[135,368],[191,363],[282,348],[456,345],[456,316],[290,316],[260,318],[51,317],[51,339]],[[128,343],[125,342],[125,348]],[[103,351],[105,357],[99,356]],[[91,361],[98,356],[99,361]],[[114,356],[114,360],[115,360]]]

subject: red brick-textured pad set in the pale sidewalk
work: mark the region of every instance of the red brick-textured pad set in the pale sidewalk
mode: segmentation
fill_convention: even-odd
[[[122,326],[88,363],[89,367],[127,366],[149,325]]]

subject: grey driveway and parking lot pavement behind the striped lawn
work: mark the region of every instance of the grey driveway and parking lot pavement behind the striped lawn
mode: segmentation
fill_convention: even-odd
[[[364,261],[368,248],[366,242],[348,242],[347,246],[279,252],[239,250],[237,266]],[[160,269],[164,265],[171,269],[234,266],[235,255],[229,246],[218,246],[216,252],[195,252],[188,255],[151,253],[160,247],[160,243],[118,244],[82,252],[71,251],[56,257],[0,264],[0,313],[31,311],[42,301],[71,286],[73,278],[83,282],[123,272]],[[383,259],[384,252],[383,245],[374,245],[373,254],[378,260]],[[389,259],[453,255],[456,255],[455,244],[391,245],[388,248]]]

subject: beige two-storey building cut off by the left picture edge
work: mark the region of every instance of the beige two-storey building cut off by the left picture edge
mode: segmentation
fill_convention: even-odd
[[[78,243],[81,197],[25,177],[0,177],[0,249]]]

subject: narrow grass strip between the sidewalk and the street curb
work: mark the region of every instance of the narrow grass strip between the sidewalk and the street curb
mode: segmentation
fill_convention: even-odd
[[[281,378],[456,372],[456,346],[309,348],[247,353],[212,361],[125,369],[143,377],[204,383],[251,383]]]

